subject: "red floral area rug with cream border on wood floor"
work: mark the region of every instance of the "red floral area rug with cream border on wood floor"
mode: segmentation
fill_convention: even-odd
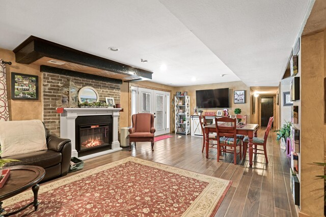
[[[40,184],[37,211],[15,216],[214,216],[231,181],[128,157]],[[32,190],[4,201],[10,212]]]

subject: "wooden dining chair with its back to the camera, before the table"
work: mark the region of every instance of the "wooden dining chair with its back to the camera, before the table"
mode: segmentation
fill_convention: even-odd
[[[218,124],[219,122],[219,124]],[[242,140],[236,138],[236,118],[215,117],[216,136],[218,139],[218,161],[220,161],[220,153],[227,152],[234,154],[234,164],[236,165],[236,156],[242,157]],[[237,152],[237,146],[239,151]],[[227,149],[231,147],[232,149]]]

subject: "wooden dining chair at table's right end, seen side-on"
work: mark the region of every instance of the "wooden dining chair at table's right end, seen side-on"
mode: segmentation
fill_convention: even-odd
[[[269,131],[271,129],[271,124],[273,123],[273,120],[274,120],[274,117],[270,117],[269,118],[268,125],[267,125],[267,128],[265,130],[264,138],[259,138],[259,137],[254,137],[253,138],[253,145],[255,146],[255,148],[253,149],[254,150],[253,153],[256,153],[256,154],[264,154],[265,155],[266,164],[268,163],[267,152],[266,152],[266,143],[267,143],[267,137],[268,137]],[[249,137],[246,136],[243,139],[243,149],[245,150],[245,151],[243,151],[243,155],[244,156],[246,156],[246,153],[247,153],[248,143],[249,143]],[[263,149],[258,149],[257,148],[258,145],[263,146]],[[264,153],[260,153],[258,151],[264,151]]]

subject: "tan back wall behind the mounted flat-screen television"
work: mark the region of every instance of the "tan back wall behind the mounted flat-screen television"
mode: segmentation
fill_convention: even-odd
[[[250,122],[251,118],[251,109],[250,109],[250,88],[244,84],[242,81],[234,81],[234,82],[226,82],[226,83],[215,83],[215,84],[203,84],[203,85],[193,85],[193,86],[183,86],[175,88],[175,91],[187,91],[188,96],[190,96],[191,103],[191,114],[194,113],[194,107],[196,107],[196,90],[201,89],[218,89],[218,88],[230,88],[230,108],[229,114],[234,114],[235,108],[241,109],[242,115],[248,115],[248,122]],[[233,103],[233,91],[234,90],[246,90],[246,103],[244,104],[234,104]],[[203,109],[203,111],[216,111],[221,110],[222,108],[209,110]]]

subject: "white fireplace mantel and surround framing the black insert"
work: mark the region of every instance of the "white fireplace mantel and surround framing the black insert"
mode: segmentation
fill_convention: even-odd
[[[78,157],[75,139],[75,119],[78,116],[112,115],[113,117],[112,149],[79,157],[79,159],[86,160],[122,150],[120,142],[118,141],[118,117],[120,116],[120,110],[121,108],[64,108],[63,113],[60,115],[60,137],[71,140],[71,157]]]

